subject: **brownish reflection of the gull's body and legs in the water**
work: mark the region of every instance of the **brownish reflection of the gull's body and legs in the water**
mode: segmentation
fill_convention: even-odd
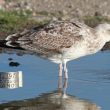
[[[58,90],[36,98],[13,101],[0,105],[0,110],[100,110],[100,107],[85,99],[66,94],[68,81],[59,78]]]

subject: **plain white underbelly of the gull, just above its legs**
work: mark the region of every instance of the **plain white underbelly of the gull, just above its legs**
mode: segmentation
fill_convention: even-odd
[[[76,46],[76,47],[71,47],[68,50],[65,50],[62,54],[58,54],[55,56],[52,56],[50,58],[48,58],[49,60],[51,60],[54,63],[61,63],[64,60],[65,61],[70,61],[70,60],[74,60],[86,55],[90,55],[90,54],[94,54],[96,53],[99,49],[92,49],[89,50],[86,45],[80,45],[80,46]]]

